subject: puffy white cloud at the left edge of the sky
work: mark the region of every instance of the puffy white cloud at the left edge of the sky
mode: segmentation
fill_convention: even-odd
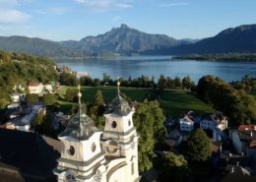
[[[30,19],[30,16],[18,10],[0,9],[0,24],[20,24]]]

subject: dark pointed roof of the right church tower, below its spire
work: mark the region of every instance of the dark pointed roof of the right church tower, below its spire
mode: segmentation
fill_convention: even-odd
[[[126,116],[131,112],[131,110],[129,103],[118,92],[114,99],[108,104],[108,109],[105,113],[114,113],[120,116]]]

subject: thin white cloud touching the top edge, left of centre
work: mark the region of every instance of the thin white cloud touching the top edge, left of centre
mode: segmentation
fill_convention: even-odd
[[[83,4],[94,12],[106,12],[112,10],[122,10],[133,7],[132,4],[125,0],[74,0],[77,3]]]

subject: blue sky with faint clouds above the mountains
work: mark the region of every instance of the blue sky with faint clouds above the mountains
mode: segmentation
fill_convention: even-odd
[[[256,24],[255,8],[255,0],[0,0],[0,35],[80,40],[126,24],[195,39]]]

